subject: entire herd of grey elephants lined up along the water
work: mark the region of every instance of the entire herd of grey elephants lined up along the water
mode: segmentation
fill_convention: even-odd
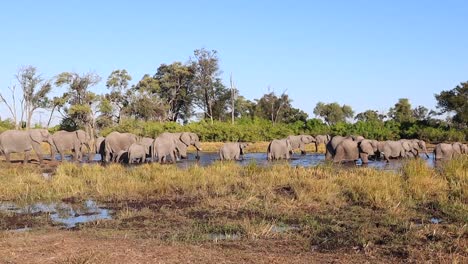
[[[143,163],[157,160],[160,163],[175,163],[178,159],[187,158],[187,149],[194,146],[202,150],[197,134],[191,132],[164,132],[156,138],[139,137],[132,133],[112,132],[106,137],[92,139],[85,131],[58,131],[50,134],[46,129],[7,130],[0,134],[0,152],[10,162],[11,153],[24,153],[24,162],[29,161],[30,152],[34,150],[42,163],[41,144],[50,145],[51,159],[58,153],[61,160],[64,155],[73,153],[74,161],[82,161],[83,152],[98,153],[102,162]],[[400,139],[396,141],[377,141],[362,136],[329,135],[296,135],[284,139],[275,139],[267,148],[268,160],[290,159],[293,151],[300,149],[305,154],[305,146],[315,144],[316,151],[320,144],[326,146],[325,159],[335,163],[361,160],[368,163],[370,159],[385,160],[418,157],[420,153],[429,158],[426,143],[418,139]],[[219,150],[220,160],[239,160],[249,144],[246,142],[224,143]],[[451,159],[454,156],[468,154],[466,144],[439,143],[434,148],[434,158]],[[168,159],[170,157],[170,160]]]

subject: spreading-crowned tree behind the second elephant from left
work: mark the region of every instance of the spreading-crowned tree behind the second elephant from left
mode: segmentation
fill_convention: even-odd
[[[58,87],[68,86],[64,97],[67,99],[68,107],[65,107],[67,118],[65,123],[69,127],[84,127],[88,135],[94,139],[95,109],[99,103],[99,97],[89,88],[98,84],[101,77],[96,73],[78,74],[75,72],[63,72],[57,75],[55,85]]]

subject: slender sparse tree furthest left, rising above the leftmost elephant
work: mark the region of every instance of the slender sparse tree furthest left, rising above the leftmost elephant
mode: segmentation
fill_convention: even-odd
[[[23,91],[23,115],[26,115],[26,128],[31,128],[31,120],[38,108],[45,108],[48,105],[47,94],[52,86],[49,81],[41,78],[37,73],[37,69],[33,66],[26,66],[19,69],[16,74],[16,79]]]

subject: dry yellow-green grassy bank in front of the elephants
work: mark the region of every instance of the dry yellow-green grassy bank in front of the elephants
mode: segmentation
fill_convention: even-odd
[[[107,204],[114,220],[82,226],[98,236],[189,244],[275,240],[300,251],[357,250],[402,261],[463,262],[468,255],[466,156],[437,169],[410,160],[399,172],[286,163],[187,170],[65,163],[49,180],[37,166],[1,166],[0,200]]]

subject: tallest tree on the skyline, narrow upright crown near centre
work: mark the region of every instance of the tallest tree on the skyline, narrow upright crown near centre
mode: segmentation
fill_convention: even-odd
[[[203,48],[195,50],[194,55],[195,58],[191,62],[195,74],[194,102],[203,109],[204,117],[209,118],[213,123],[213,105],[217,95],[215,90],[219,88],[216,87],[216,83],[219,82],[218,76],[221,74],[217,51],[208,51]]]

